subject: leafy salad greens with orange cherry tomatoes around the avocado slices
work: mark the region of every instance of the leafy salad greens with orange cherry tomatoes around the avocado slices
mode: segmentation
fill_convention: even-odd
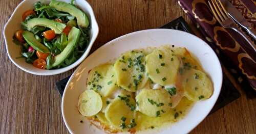
[[[52,1],[58,2],[55,0]],[[71,0],[70,5],[75,7],[74,0]],[[41,69],[56,69],[66,67],[77,61],[82,56],[84,51],[86,51],[90,42],[90,25],[88,27],[78,25],[77,18],[70,13],[58,11],[50,5],[36,2],[34,3],[34,9],[26,11],[23,17],[24,16],[26,18],[21,22],[22,30],[18,30],[15,33],[13,36],[13,42],[21,47],[20,55],[26,59],[27,63],[31,63],[33,66]],[[66,28],[62,31],[61,34],[54,33],[53,30],[47,28],[47,24],[39,24],[29,29],[26,24],[33,18],[46,18],[54,20],[59,23],[66,24]],[[72,52],[69,52],[69,56],[61,60],[61,64],[53,67],[52,64],[55,62],[54,58],[59,55],[67,46],[69,42],[68,33],[73,27],[79,29],[81,35],[78,40],[75,41],[74,49],[72,49]],[[33,48],[31,45],[29,45],[33,42],[28,42],[28,39],[23,38],[23,31],[32,32],[36,41],[45,45],[49,49],[50,53],[42,53],[42,51],[39,49]],[[45,62],[39,64],[36,62],[37,59],[43,59]],[[41,64],[45,65],[42,66]]]

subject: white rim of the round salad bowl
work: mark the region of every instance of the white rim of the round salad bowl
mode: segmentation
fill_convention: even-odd
[[[87,1],[84,1],[84,2],[88,5],[88,7],[89,7],[88,10],[91,10],[91,11],[92,11],[92,14],[90,14],[90,16],[91,16],[91,17],[90,17],[90,20],[91,20],[91,21],[94,21],[94,22],[95,22],[95,26],[96,26],[96,28],[95,28],[95,29],[96,29],[96,31],[95,31],[95,32],[96,32],[95,38],[92,38],[92,39],[91,39],[92,45],[88,45],[87,50],[86,50],[86,51],[88,51],[87,53],[86,53],[86,51],[85,51],[85,52],[83,53],[83,55],[82,55],[76,62],[72,63],[71,65],[69,65],[69,66],[67,66],[67,67],[60,68],[60,69],[62,69],[61,71],[60,71],[59,69],[54,69],[53,72],[47,72],[48,70],[46,70],[46,72],[44,72],[44,73],[34,72],[34,71],[30,71],[30,70],[28,70],[28,69],[25,69],[25,68],[23,68],[22,66],[20,66],[18,63],[16,63],[16,62],[11,58],[10,53],[9,53],[9,47],[8,47],[7,38],[6,38],[6,32],[7,32],[6,27],[7,27],[7,25],[9,24],[9,22],[13,19],[13,16],[14,16],[14,14],[17,12],[17,10],[18,10],[18,9],[23,5],[23,3],[25,3],[26,1],[29,1],[29,0],[24,0],[24,1],[22,1],[21,3],[18,4],[18,6],[14,9],[14,11],[13,11],[11,17],[8,19],[8,21],[6,22],[6,24],[5,24],[5,26],[4,26],[3,35],[4,35],[4,39],[5,39],[5,46],[6,46],[7,55],[8,55],[9,59],[11,60],[11,62],[12,62],[14,65],[16,65],[19,69],[22,69],[22,70],[25,71],[25,72],[28,72],[28,73],[31,73],[31,74],[35,74],[35,75],[55,75],[55,74],[60,74],[60,73],[63,73],[63,72],[67,72],[67,71],[69,71],[69,70],[75,68],[75,67],[78,66],[84,59],[87,58],[87,56],[89,55],[90,50],[91,50],[91,48],[92,48],[92,46],[93,46],[93,43],[95,42],[96,38],[98,37],[98,34],[99,34],[99,26],[98,26],[98,23],[97,23],[97,20],[96,20],[96,18],[95,18],[95,14],[94,14],[94,11],[93,11],[91,5],[90,5]]]

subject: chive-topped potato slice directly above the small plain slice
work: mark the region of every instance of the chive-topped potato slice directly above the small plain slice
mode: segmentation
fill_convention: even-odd
[[[87,88],[95,90],[103,97],[117,90],[116,75],[112,64],[106,63],[90,71]]]

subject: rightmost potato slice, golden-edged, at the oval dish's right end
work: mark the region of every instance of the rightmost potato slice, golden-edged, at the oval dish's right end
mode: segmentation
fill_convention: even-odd
[[[185,71],[182,85],[184,95],[193,101],[207,99],[214,91],[211,80],[207,75],[196,69]]]

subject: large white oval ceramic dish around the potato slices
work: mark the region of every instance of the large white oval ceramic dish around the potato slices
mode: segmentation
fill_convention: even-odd
[[[92,53],[72,74],[62,97],[62,116],[71,133],[104,133],[81,116],[77,110],[79,94],[86,90],[88,71],[120,56],[121,53],[137,48],[171,44],[186,47],[200,61],[203,69],[211,78],[214,93],[209,99],[196,102],[184,119],[170,127],[163,128],[159,133],[188,133],[195,128],[214,106],[222,86],[222,70],[220,62],[207,43],[198,37],[177,30],[153,29],[130,33],[116,38],[101,46]],[[80,123],[80,120],[83,123]],[[141,133],[156,133],[154,130]]]

